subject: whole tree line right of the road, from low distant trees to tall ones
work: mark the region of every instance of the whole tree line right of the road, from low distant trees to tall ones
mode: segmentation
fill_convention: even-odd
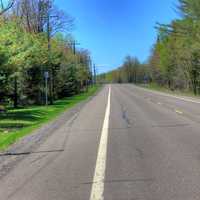
[[[156,24],[157,40],[145,64],[127,57],[123,65],[101,75],[112,82],[154,82],[171,90],[200,93],[200,1],[178,0],[180,17]]]

